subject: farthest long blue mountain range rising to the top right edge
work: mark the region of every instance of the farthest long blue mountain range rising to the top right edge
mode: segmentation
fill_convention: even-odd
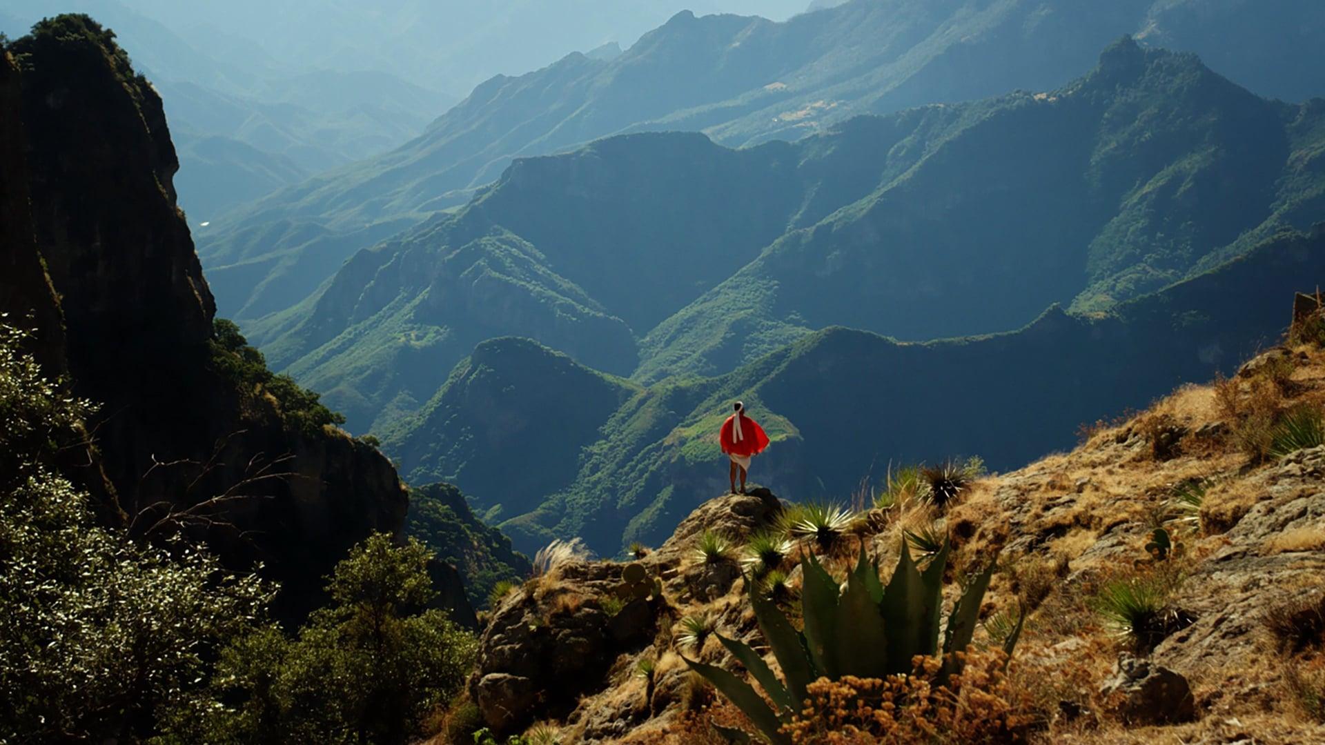
[[[576,53],[489,80],[400,148],[213,223],[199,251],[223,312],[248,321],[293,305],[354,251],[464,203],[513,158],[643,130],[727,146],[796,139],[863,113],[1052,90],[1129,33],[1301,101],[1325,87],[1322,28],[1314,0],[1273,13],[1252,1],[853,0],[780,24],[686,12],[615,58]]]

